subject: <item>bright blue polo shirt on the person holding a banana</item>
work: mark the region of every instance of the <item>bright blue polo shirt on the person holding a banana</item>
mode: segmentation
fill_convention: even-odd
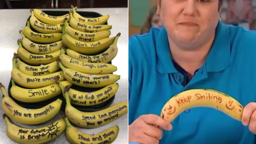
[[[129,39],[129,124],[140,115],[160,115],[165,103],[180,92],[209,88],[224,92],[243,106],[256,101],[256,32],[219,22],[205,63],[184,84],[171,60],[167,31]],[[165,131],[161,144],[254,144],[248,126],[221,111],[196,107],[183,111]]]

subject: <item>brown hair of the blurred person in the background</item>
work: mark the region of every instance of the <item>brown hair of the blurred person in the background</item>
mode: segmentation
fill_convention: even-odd
[[[152,18],[156,14],[156,6],[152,7],[148,12],[148,16],[146,17],[146,21],[144,22],[143,26],[140,29],[140,34],[148,33],[150,31],[150,27],[152,27],[151,22]]]

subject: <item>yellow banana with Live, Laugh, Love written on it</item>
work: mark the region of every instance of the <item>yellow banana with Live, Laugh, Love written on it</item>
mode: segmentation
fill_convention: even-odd
[[[70,58],[64,52],[64,46],[61,48],[60,61],[64,67],[74,69],[75,71],[79,71],[81,73],[90,73],[90,74],[109,74],[117,71],[117,67],[108,64],[108,63],[87,63],[81,62],[79,60],[75,60],[74,58]]]

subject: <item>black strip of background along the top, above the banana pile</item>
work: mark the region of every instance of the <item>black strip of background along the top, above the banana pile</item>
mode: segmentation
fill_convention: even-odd
[[[9,9],[7,0],[0,0],[0,9]],[[52,9],[52,0],[24,0],[10,1],[12,9]],[[56,9],[56,0],[53,0]],[[70,9],[71,5],[77,6],[77,0],[58,0],[58,9]],[[93,8],[128,7],[128,0],[94,0]],[[80,8],[90,8],[89,0],[80,0]]]

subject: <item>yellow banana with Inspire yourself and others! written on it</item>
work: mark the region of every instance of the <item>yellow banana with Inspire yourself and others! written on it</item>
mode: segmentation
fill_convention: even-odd
[[[87,88],[101,88],[108,86],[109,84],[114,84],[120,79],[120,75],[114,74],[102,74],[102,75],[91,75],[80,73],[74,69],[67,69],[62,65],[60,59],[57,60],[60,69],[62,69],[64,77],[67,81],[77,86],[83,86]]]

